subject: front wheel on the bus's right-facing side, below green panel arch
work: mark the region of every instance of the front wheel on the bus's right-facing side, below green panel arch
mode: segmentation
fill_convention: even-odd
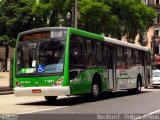
[[[100,96],[101,96],[100,82],[98,80],[93,80],[92,93],[91,93],[92,101],[97,101],[100,98]]]

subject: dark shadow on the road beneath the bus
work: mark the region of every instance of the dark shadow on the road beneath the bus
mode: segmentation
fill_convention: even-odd
[[[137,96],[142,95],[144,93],[148,93],[149,91],[142,91],[140,94],[131,94],[128,91],[118,91],[113,93],[103,93],[102,97],[98,101],[108,100],[108,99],[117,99],[120,97],[130,97],[130,96]],[[98,102],[97,101],[97,102]],[[47,101],[41,101],[41,102],[31,102],[31,103],[23,103],[23,104],[17,104],[17,105],[32,105],[32,106],[72,106],[72,105],[78,105],[82,103],[88,103],[91,102],[90,97],[88,96],[71,96],[71,97],[65,97],[65,98],[58,98],[57,101],[49,103]]]

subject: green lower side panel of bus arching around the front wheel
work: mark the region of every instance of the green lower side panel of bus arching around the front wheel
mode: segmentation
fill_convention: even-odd
[[[107,91],[107,75],[103,67],[91,67],[82,70],[77,78],[70,80],[71,94],[84,94],[92,92],[92,80],[96,73],[101,77],[102,91]],[[104,78],[106,76],[106,78]]]

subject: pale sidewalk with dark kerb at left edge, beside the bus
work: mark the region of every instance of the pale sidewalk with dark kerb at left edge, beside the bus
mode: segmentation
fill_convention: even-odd
[[[0,72],[0,95],[12,93],[13,88],[10,87],[9,72]]]

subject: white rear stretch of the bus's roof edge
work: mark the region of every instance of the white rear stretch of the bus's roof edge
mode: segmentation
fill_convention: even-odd
[[[136,45],[136,44],[132,44],[132,43],[127,43],[127,42],[117,40],[117,39],[114,39],[114,38],[104,37],[104,40],[108,43],[113,43],[113,44],[116,44],[116,45],[131,47],[131,48],[139,49],[139,50],[143,50],[143,51],[148,51],[149,50],[149,48],[147,48],[147,47],[143,47],[141,45]]]

